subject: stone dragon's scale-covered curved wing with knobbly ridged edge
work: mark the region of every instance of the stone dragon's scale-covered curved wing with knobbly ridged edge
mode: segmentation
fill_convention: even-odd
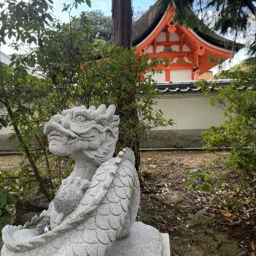
[[[140,186],[134,162],[133,152],[125,148],[102,164],[78,208],[49,233],[22,243],[23,252],[48,244],[56,255],[105,255],[113,241],[127,235],[138,212]]]

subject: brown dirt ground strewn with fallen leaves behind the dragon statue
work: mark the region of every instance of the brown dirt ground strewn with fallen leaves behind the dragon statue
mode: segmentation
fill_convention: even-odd
[[[255,190],[227,170],[226,153],[143,152],[138,219],[169,233],[172,256],[256,256]],[[1,170],[17,170],[19,156],[0,156]],[[186,172],[207,173],[211,192],[184,185]]]

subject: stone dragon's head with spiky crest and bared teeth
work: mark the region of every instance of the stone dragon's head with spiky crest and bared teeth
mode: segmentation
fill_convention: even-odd
[[[118,139],[119,116],[116,106],[99,108],[85,106],[62,111],[50,118],[44,134],[48,136],[49,149],[59,156],[75,156],[81,152],[97,165],[113,157]]]

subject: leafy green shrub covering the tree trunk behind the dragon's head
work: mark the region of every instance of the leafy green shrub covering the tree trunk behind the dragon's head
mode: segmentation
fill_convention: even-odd
[[[173,124],[171,119],[163,118],[161,110],[153,110],[158,92],[152,86],[152,76],[157,72],[155,67],[165,64],[165,60],[149,60],[147,55],[136,56],[134,50],[118,46],[103,50],[102,59],[97,79],[106,93],[95,100],[115,103],[121,118],[117,150],[128,146],[136,154],[138,143],[146,140],[152,129]],[[139,156],[137,159],[139,167]]]

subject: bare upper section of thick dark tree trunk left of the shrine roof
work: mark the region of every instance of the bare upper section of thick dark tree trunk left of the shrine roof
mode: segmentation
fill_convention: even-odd
[[[112,43],[132,47],[132,2],[112,0]]]

